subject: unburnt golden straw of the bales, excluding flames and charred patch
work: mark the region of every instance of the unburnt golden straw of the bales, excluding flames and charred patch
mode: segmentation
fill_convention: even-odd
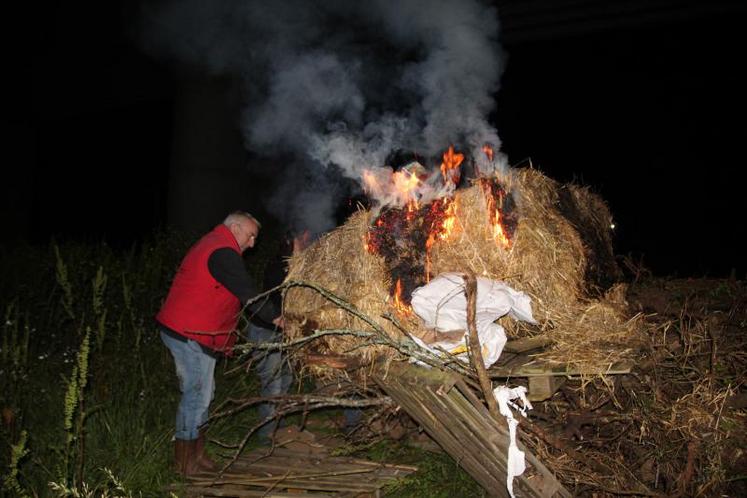
[[[560,185],[531,168],[514,170],[500,182],[513,194],[518,209],[518,227],[510,247],[494,240],[485,194],[476,183],[456,194],[455,228],[447,240],[437,241],[431,249],[432,275],[471,270],[529,294],[540,332],[554,340],[554,346],[544,353],[547,360],[603,367],[626,357],[639,339],[636,320],[626,320],[625,289],[618,284],[608,286],[604,293],[599,286],[599,273],[605,268],[614,270],[610,279],[618,276],[608,233],[611,216],[604,201],[587,189]],[[396,338],[401,332],[382,318],[386,313],[394,314],[389,269],[364,243],[372,218],[370,212],[359,211],[294,256],[288,279],[328,289]],[[596,243],[590,245],[590,240]],[[595,263],[590,265],[591,260]],[[290,338],[318,329],[370,330],[309,289],[290,289],[285,302]],[[407,330],[416,335],[423,332],[417,317],[398,318]],[[507,319],[502,319],[502,325],[510,337],[527,333]],[[390,348],[362,345],[349,336],[315,342],[318,353],[356,354],[365,360],[393,354]]]

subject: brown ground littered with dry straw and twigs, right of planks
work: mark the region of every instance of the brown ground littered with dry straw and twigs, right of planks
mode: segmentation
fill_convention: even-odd
[[[747,496],[747,288],[641,279],[648,344],[629,375],[567,382],[528,444],[575,495]]]

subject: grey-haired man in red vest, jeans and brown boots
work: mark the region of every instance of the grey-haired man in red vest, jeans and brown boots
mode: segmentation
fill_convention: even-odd
[[[202,425],[215,391],[216,358],[231,354],[241,309],[258,294],[241,254],[254,247],[260,227],[249,213],[229,214],[189,249],[156,315],[182,392],[174,453],[176,470],[185,476],[216,470],[204,451]],[[282,326],[272,303],[260,300],[249,309],[262,320]]]

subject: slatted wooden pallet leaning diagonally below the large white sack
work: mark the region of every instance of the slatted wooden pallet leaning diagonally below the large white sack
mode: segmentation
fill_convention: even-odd
[[[373,378],[490,495],[510,496],[506,487],[508,428],[503,419],[490,415],[464,379],[400,362],[382,367]],[[527,469],[514,478],[517,496],[571,496],[542,462],[520,442],[518,446],[525,452]]]

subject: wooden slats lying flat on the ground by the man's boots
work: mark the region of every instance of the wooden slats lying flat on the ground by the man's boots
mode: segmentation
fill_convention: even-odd
[[[188,497],[378,497],[387,483],[417,470],[326,452],[260,448],[239,458],[222,475],[190,477]]]

